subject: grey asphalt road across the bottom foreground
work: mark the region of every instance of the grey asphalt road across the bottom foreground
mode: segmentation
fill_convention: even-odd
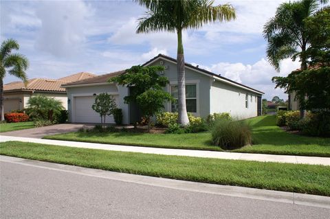
[[[330,209],[0,161],[0,218],[329,218]]]

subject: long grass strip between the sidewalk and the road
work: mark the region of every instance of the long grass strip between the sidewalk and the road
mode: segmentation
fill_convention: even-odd
[[[185,181],[330,196],[330,168],[322,165],[177,157],[19,141],[0,143],[0,154]]]

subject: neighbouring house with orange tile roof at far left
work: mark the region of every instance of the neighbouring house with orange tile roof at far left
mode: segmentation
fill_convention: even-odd
[[[75,73],[71,76],[58,79],[33,78],[28,80],[25,87],[23,82],[11,82],[3,85],[4,112],[21,110],[28,106],[30,97],[38,94],[54,97],[61,100],[63,106],[67,108],[67,92],[61,84],[92,78],[95,75],[87,72]]]

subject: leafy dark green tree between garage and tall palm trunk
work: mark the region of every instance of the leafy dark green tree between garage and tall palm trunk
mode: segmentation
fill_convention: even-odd
[[[151,117],[164,108],[166,101],[173,97],[164,91],[168,78],[159,76],[159,71],[164,71],[163,66],[133,66],[126,73],[111,78],[109,82],[133,88],[128,96],[124,97],[126,104],[137,102],[144,117],[148,118],[148,130],[151,128]]]

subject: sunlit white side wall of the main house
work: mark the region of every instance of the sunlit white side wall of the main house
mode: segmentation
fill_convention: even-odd
[[[246,93],[248,93],[248,108],[245,108]],[[212,81],[212,87],[210,89],[210,114],[230,113],[232,117],[237,119],[256,117],[258,115],[256,96],[257,94],[251,91],[233,87],[224,82]]]

